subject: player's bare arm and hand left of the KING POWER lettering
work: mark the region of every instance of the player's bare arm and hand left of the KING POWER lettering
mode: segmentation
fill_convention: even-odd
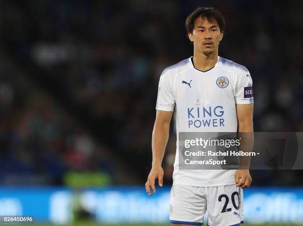
[[[169,126],[172,111],[156,111],[156,119],[152,131],[152,170],[145,183],[147,193],[151,196],[155,190],[155,179],[158,179],[159,186],[163,184],[163,168],[161,166],[165,147],[169,136]]]

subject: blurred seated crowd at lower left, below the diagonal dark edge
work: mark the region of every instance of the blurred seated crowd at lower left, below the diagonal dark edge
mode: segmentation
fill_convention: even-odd
[[[109,183],[110,166],[101,156],[104,147],[25,74],[8,65],[5,62],[4,68],[10,73],[2,70],[0,78],[0,183],[72,185],[74,172],[98,168],[106,173],[99,173],[95,184]]]

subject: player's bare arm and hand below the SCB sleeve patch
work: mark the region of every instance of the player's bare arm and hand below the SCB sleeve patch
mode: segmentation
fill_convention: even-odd
[[[238,118],[238,132],[242,136],[240,150],[251,151],[253,149],[253,104],[236,104]],[[248,132],[248,133],[244,133]],[[249,171],[250,157],[240,158],[240,168],[235,173],[236,186],[249,187],[252,177]]]

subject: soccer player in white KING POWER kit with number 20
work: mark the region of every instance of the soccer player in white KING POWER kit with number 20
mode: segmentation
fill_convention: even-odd
[[[180,170],[178,133],[253,132],[252,77],[246,67],[218,56],[225,27],[218,9],[199,7],[185,25],[194,56],[166,68],[160,76],[146,190],[149,195],[156,191],[156,179],[162,186],[161,163],[176,109],[171,224],[202,225],[207,209],[209,226],[238,226],[244,222],[242,188],[252,182],[249,170]],[[202,114],[202,109],[211,112]]]

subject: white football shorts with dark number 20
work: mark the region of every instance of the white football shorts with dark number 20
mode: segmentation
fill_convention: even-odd
[[[239,226],[243,218],[243,190],[235,184],[217,187],[173,185],[170,190],[170,223],[208,226]]]

